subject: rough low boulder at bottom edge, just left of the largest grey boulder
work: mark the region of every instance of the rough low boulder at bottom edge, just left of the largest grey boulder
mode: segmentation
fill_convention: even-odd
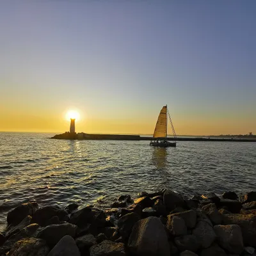
[[[90,248],[90,256],[124,256],[125,248],[123,243],[115,243],[105,240]]]

